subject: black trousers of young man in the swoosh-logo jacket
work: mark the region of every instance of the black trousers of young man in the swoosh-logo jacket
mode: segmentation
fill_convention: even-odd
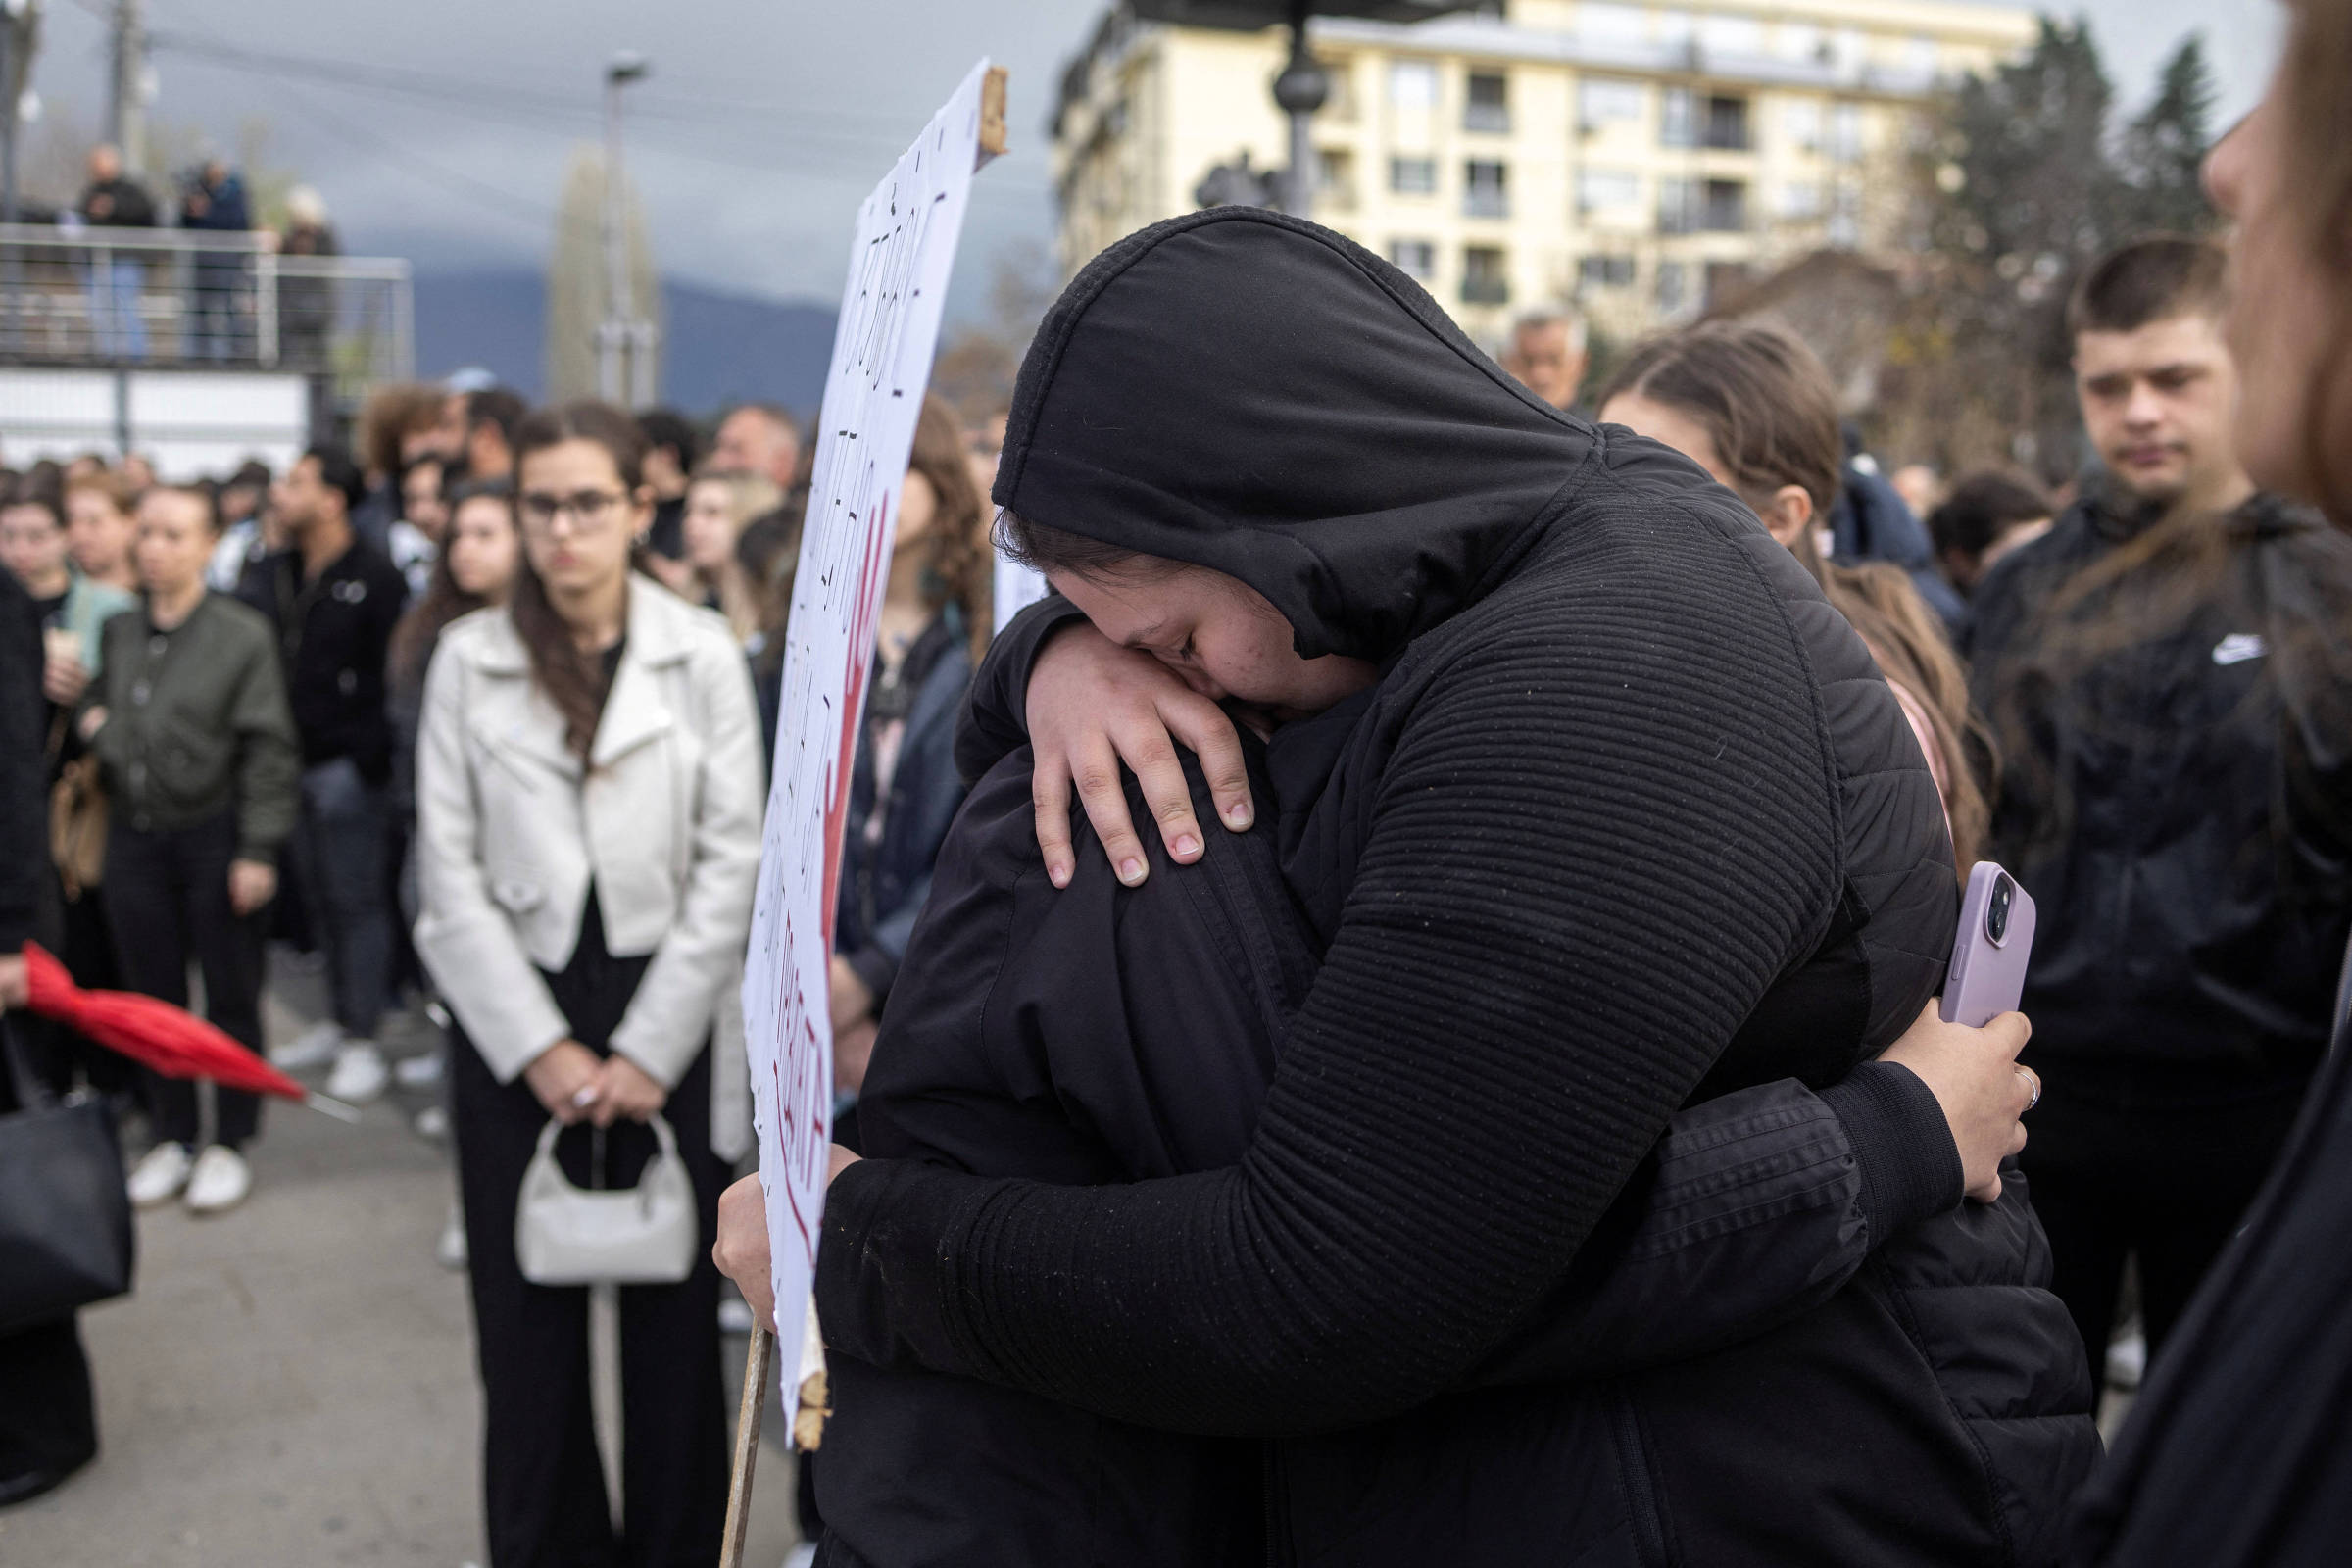
[[[2138,1258],[2147,1356],[2171,1335],[2213,1258],[2237,1232],[2303,1103],[2303,1088],[2176,1093],[2126,1079],[2042,1072],[2023,1166],[2051,1239],[2051,1291],[2100,1375],[2124,1258]],[[2154,1077],[2154,1074],[2150,1074]]]

